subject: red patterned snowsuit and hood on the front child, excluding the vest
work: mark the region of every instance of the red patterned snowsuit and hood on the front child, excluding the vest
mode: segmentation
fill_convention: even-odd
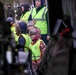
[[[31,43],[32,45],[34,45],[41,38],[40,29],[35,27],[34,29],[30,30],[30,35],[31,36],[34,35],[32,37],[32,43]],[[32,67],[35,68],[35,69],[38,67],[38,65],[41,62],[42,56],[43,56],[44,51],[46,49],[46,44],[43,41],[41,41],[40,45],[39,45],[39,48],[40,48],[40,51],[41,51],[40,59],[38,59],[36,61],[35,60],[32,61]]]

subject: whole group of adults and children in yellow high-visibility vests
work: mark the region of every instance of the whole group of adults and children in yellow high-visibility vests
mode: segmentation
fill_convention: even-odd
[[[11,8],[9,6],[9,8]],[[12,11],[13,12],[13,11]],[[30,9],[29,4],[22,4],[18,21],[14,21],[14,13],[7,15],[11,23],[12,37],[16,43],[16,51],[32,52],[32,68],[37,68],[50,40],[48,9],[43,0],[35,0],[35,6]]]

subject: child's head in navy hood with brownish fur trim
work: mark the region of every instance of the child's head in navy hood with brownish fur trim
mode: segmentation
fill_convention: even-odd
[[[20,35],[22,33],[27,33],[27,24],[25,22],[18,22],[16,23],[16,33]]]

